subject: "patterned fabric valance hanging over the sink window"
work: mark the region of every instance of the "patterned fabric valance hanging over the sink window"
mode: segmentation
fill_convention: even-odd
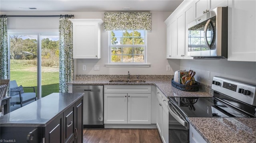
[[[105,30],[151,30],[151,12],[105,12]]]

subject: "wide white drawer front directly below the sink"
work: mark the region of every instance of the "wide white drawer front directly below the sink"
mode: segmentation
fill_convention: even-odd
[[[104,93],[151,93],[150,85],[106,85]]]

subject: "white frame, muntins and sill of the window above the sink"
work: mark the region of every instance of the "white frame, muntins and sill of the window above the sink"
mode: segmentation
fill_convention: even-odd
[[[113,30],[113,31],[124,31],[124,30]],[[136,31],[136,30],[127,30],[127,31]],[[149,64],[147,64],[147,31],[144,31],[144,45],[111,45],[111,30],[108,31],[108,64],[106,64],[106,67],[149,67]],[[143,63],[113,63],[111,62],[111,48],[112,47],[144,47],[144,62]],[[134,56],[134,54],[132,54]],[[136,54],[135,54],[136,55]],[[116,66],[115,66],[116,65]]]

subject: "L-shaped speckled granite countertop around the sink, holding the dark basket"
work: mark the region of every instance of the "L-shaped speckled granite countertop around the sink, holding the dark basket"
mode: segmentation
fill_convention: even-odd
[[[122,75],[116,75],[118,77],[113,77],[113,75],[98,75],[88,78],[79,77],[76,80],[69,82],[70,85],[155,85],[157,86],[163,94],[168,97],[212,97],[211,87],[205,84],[201,84],[198,92],[186,92],[174,88],[171,83],[173,75],[144,75],[140,79],[146,82],[109,82],[111,79],[125,79]],[[140,75],[142,76],[142,75]],[[132,75],[131,75],[132,77]],[[135,78],[136,79],[136,78]]]

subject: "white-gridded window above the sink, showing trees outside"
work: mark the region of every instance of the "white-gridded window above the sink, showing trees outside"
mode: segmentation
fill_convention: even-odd
[[[109,37],[109,63],[146,63],[146,30],[112,30]]]

